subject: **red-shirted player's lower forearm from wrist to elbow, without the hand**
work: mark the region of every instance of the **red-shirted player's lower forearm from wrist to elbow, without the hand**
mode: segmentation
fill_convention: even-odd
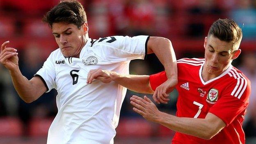
[[[214,126],[208,123],[206,119],[176,117],[164,112],[160,112],[159,116],[156,121],[157,123],[176,132],[192,135],[201,139],[210,139],[219,132],[219,130],[213,128]]]

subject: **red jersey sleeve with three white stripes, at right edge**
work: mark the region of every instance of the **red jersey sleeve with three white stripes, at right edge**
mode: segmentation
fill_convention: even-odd
[[[226,87],[221,98],[210,108],[209,112],[215,114],[222,119],[226,126],[234,121],[234,119],[243,112],[249,104],[249,95],[251,93],[251,85],[249,80],[245,80],[246,84],[234,81]],[[239,87],[241,86],[241,89]]]

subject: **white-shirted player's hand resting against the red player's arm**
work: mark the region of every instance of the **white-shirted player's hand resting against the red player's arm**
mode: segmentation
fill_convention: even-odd
[[[174,87],[177,85],[177,80],[169,78],[167,81],[162,83],[162,85],[158,86],[155,89],[155,92],[153,94],[153,99],[156,103],[165,103],[167,104],[168,101],[170,101],[169,93],[174,90]]]

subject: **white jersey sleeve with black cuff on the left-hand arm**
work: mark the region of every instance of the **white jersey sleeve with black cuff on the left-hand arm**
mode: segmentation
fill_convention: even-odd
[[[34,76],[38,76],[43,81],[46,86],[46,92],[49,92],[51,89],[56,88],[55,85],[55,67],[52,60],[53,55],[51,54],[46,61],[43,63],[43,66]]]

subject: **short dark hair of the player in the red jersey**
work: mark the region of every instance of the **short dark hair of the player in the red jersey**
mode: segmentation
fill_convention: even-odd
[[[208,32],[208,37],[213,35],[221,41],[240,43],[242,30],[235,21],[229,19],[218,19],[213,23]]]

